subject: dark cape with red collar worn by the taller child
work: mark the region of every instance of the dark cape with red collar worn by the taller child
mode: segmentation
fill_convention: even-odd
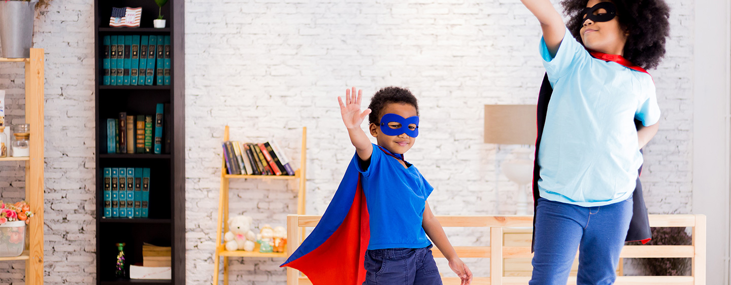
[[[635,64],[632,64],[632,62],[629,62],[626,60],[626,58],[618,55],[610,55],[606,53],[598,53],[594,51],[590,51],[591,56],[594,56],[594,58],[599,58],[604,61],[613,61],[618,64],[621,64],[622,66],[625,66],[629,69],[637,70],[638,72],[644,72],[649,75],[649,73],[643,69],[640,66],[636,66]],[[538,198],[540,198],[540,192],[538,190],[538,180],[540,178],[540,167],[538,162],[538,150],[539,146],[541,144],[541,135],[543,134],[543,126],[545,126],[546,122],[546,112],[548,111],[548,102],[550,101],[550,96],[553,94],[553,88],[550,86],[550,81],[548,81],[548,74],[543,75],[543,83],[541,84],[541,89],[538,92],[538,106],[537,106],[537,127],[538,127],[538,136],[536,138],[536,153],[535,153],[535,160],[533,164],[533,213],[536,213],[535,209],[538,205]],[[635,126],[639,128],[641,126],[641,122],[635,120]],[[641,152],[642,150],[640,150]],[[629,230],[627,231],[627,236],[625,238],[625,241],[641,241],[642,243],[647,243],[652,238],[651,232],[650,232],[650,221],[648,218],[647,213],[647,207],[645,207],[645,198],[643,198],[642,194],[642,183],[640,183],[640,174],[642,173],[642,165],[640,165],[640,169],[637,170],[637,183],[635,186],[635,191],[632,193],[632,220],[629,221]],[[536,216],[533,216],[533,228],[535,229],[536,226]],[[532,246],[535,246],[535,231],[533,240],[534,244]],[[531,247],[532,247],[531,246]]]

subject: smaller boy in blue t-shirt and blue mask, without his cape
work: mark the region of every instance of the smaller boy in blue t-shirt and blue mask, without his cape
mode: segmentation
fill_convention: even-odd
[[[370,216],[363,285],[442,284],[427,235],[461,278],[461,284],[470,284],[472,273],[457,256],[426,201],[433,187],[413,164],[404,161],[404,153],[412,148],[419,132],[416,98],[404,88],[382,88],[369,108],[360,112],[362,94],[359,90],[356,96],[352,88],[346,91],[345,103],[341,97],[338,102],[357,153]],[[360,129],[366,115],[377,145]]]

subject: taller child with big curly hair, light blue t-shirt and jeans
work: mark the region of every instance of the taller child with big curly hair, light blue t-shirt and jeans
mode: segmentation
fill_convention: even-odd
[[[643,148],[657,133],[654,69],[665,53],[663,0],[521,0],[542,28],[553,88],[537,149],[533,275],[566,284],[613,284],[632,218]],[[640,122],[635,126],[635,121]]]

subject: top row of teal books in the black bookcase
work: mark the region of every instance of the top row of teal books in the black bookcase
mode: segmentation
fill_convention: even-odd
[[[103,85],[170,85],[170,36],[104,36]]]

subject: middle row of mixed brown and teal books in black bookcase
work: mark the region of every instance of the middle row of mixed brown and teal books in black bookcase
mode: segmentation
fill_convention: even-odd
[[[170,104],[157,104],[155,116],[127,115],[107,119],[107,153],[170,153]]]

